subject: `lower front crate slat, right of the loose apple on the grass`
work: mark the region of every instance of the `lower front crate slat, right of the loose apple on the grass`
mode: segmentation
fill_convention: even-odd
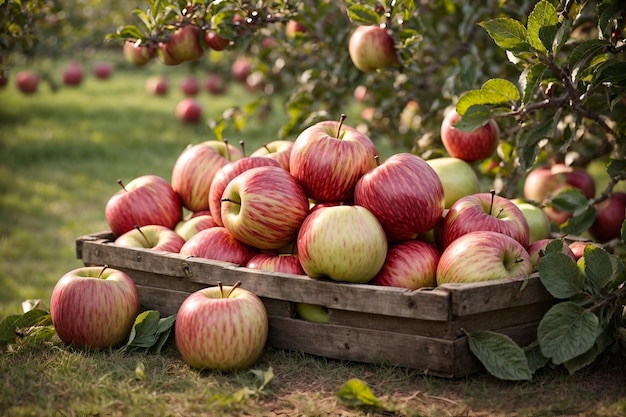
[[[332,359],[393,363],[451,377],[454,342],[418,335],[270,317],[269,346]]]

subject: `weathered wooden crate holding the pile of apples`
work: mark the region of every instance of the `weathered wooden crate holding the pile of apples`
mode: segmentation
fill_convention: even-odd
[[[554,299],[538,276],[406,290],[268,273],[234,264],[113,245],[101,232],[76,240],[85,265],[108,265],[135,281],[143,308],[174,314],[192,292],[232,285],[257,294],[269,316],[269,346],[358,362],[387,362],[456,378],[483,369],[465,332],[494,330],[520,345],[535,339]],[[295,303],[326,306],[330,323],[295,317]]]

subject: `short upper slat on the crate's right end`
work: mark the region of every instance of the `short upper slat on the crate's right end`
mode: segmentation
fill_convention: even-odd
[[[456,317],[554,300],[538,274],[470,284],[444,284],[439,288],[450,292],[451,313]]]

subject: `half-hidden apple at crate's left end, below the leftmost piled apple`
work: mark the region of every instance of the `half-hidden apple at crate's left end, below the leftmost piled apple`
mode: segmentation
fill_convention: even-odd
[[[113,242],[127,248],[147,248],[164,252],[178,253],[185,240],[174,230],[158,224],[137,226]]]

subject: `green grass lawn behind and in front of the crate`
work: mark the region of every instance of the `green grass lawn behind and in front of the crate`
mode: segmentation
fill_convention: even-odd
[[[169,96],[144,91],[148,73],[158,71],[165,68],[120,68],[107,81],[87,74],[79,88],[53,93],[41,85],[33,96],[12,82],[0,90],[0,319],[20,313],[26,299],[41,299],[47,308],[56,281],[82,266],[76,237],[107,229],[104,206],[118,178],[169,179],[185,146],[214,139],[206,125],[174,117],[182,69],[167,70]],[[241,86],[226,96],[199,96],[208,117],[249,99]],[[275,139],[285,121],[280,105],[276,99],[271,117],[226,136],[245,140],[249,152]],[[392,152],[382,142],[380,148]],[[391,410],[385,415],[618,416],[626,413],[625,363],[607,356],[574,376],[547,370],[532,382],[510,383],[266,349],[255,369],[271,370],[273,379],[262,385],[250,372],[192,370],[171,343],[154,355],[80,351],[52,339],[0,353],[0,414],[377,415],[333,395],[359,378]]]

